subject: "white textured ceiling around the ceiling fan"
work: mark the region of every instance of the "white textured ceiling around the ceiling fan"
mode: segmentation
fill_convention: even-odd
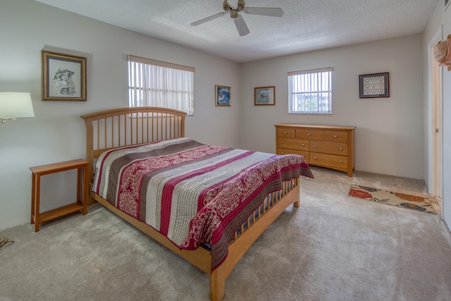
[[[280,7],[281,18],[240,13],[249,35],[238,35],[223,0],[36,0],[119,27],[237,62],[314,51],[423,32],[438,0],[245,0]]]

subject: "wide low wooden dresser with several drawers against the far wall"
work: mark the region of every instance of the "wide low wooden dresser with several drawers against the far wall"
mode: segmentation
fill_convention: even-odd
[[[310,165],[354,171],[355,126],[276,124],[277,154],[300,154]]]

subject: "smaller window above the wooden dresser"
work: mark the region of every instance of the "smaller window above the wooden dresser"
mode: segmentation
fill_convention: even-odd
[[[332,67],[288,73],[289,113],[332,113]]]

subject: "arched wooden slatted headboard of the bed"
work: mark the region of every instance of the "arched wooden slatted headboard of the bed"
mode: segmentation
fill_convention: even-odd
[[[81,118],[86,126],[86,159],[92,183],[94,164],[102,152],[117,147],[185,137],[183,111],[142,106],[91,113]],[[88,200],[92,203],[92,200]]]

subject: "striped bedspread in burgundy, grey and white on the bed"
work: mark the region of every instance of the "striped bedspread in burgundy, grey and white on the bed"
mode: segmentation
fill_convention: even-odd
[[[190,138],[122,147],[99,156],[92,190],[185,250],[211,245],[211,268],[268,193],[313,178],[303,156],[204,145]]]

